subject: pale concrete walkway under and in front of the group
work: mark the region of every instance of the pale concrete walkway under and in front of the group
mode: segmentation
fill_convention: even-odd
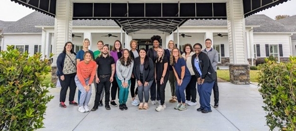
[[[55,98],[47,104],[45,128],[38,131],[268,131],[256,85],[219,83],[219,88],[219,108],[212,107],[213,112],[207,114],[196,111],[199,103],[187,106],[185,111],[175,110],[175,103],[168,102],[169,84],[166,87],[167,108],[162,112],[155,111],[157,105],[151,105],[150,101],[148,110],[138,110],[129,98],[125,111],[112,106],[111,110],[106,110],[104,105],[94,112],[79,113],[78,106],[68,105],[68,102],[67,108],[59,107],[60,88],[54,88],[50,90]],[[90,108],[94,97],[93,90]],[[211,101],[213,106],[213,94]]]

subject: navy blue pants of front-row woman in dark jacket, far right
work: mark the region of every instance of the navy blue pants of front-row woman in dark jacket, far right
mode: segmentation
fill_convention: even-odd
[[[211,101],[211,94],[212,94],[214,83],[215,81],[197,85],[200,108],[205,110],[211,110],[210,101]]]

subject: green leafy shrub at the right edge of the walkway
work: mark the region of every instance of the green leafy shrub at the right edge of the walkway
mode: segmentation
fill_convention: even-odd
[[[260,65],[258,82],[270,130],[296,131],[296,57],[288,63],[267,61]]]

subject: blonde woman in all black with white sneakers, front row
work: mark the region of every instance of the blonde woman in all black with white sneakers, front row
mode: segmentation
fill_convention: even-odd
[[[157,92],[160,96],[160,104],[155,109],[156,111],[163,111],[166,106],[164,103],[165,98],[165,86],[169,79],[168,60],[164,55],[164,50],[158,48],[157,57],[155,60],[155,81],[157,85]]]

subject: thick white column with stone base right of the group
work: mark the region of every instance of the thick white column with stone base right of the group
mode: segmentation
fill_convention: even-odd
[[[250,84],[243,0],[228,0],[226,2],[226,12],[229,41],[230,82],[239,85]]]

